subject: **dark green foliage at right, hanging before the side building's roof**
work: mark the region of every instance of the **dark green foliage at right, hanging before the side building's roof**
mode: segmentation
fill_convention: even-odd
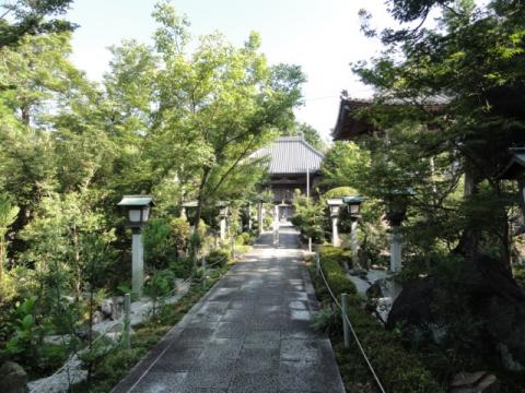
[[[385,29],[388,50],[353,67],[377,92],[374,105],[357,116],[388,135],[358,142],[374,157],[363,190],[376,198],[382,189],[417,190],[407,228],[412,252],[459,246],[509,264],[509,207],[516,207],[517,198],[499,174],[508,148],[525,143],[518,87],[525,75],[524,5],[400,0],[392,1],[390,13],[401,22],[424,22],[431,9],[440,14],[439,27]],[[412,105],[389,105],[396,100]]]

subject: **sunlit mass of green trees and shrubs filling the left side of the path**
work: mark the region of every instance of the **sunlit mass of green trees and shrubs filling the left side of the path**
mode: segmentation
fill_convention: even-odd
[[[130,291],[122,287],[129,239],[116,207],[122,194],[155,198],[144,257],[147,272],[160,272],[145,290],[156,297],[172,275],[190,276],[180,254],[206,252],[213,240],[214,216],[202,215],[205,223],[201,212],[217,200],[238,207],[256,193],[265,170],[247,157],[293,123],[301,100],[300,68],[268,66],[256,33],[242,46],[218,33],[194,40],[168,2],[155,7],[153,45],[110,48],[103,82],[91,82],[70,61],[71,35],[59,33],[71,25],[47,19],[69,3],[2,5],[10,10],[0,21],[0,144],[9,146],[0,148],[2,349],[13,337],[23,344],[24,324],[10,323],[16,301],[36,294],[35,323],[75,335],[91,329],[96,294]],[[173,217],[192,199],[201,203],[188,210],[191,235]],[[66,356],[79,345],[71,341]],[[33,360],[59,358],[49,350]]]

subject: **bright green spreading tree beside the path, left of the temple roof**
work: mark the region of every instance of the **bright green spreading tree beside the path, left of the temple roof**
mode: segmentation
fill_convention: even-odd
[[[199,179],[198,226],[203,206],[217,200],[235,174],[248,169],[246,158],[293,120],[304,76],[295,66],[268,67],[255,33],[240,48],[220,34],[203,36],[188,53],[187,21],[165,2],[154,16],[161,25],[156,49],[165,69],[159,71],[151,141],[164,148],[177,146],[171,154],[188,157],[184,171]]]

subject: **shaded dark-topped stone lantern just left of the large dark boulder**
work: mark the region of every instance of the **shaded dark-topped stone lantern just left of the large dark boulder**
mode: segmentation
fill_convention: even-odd
[[[395,190],[385,198],[386,219],[390,225],[390,272],[401,271],[401,223],[407,215],[411,189]]]

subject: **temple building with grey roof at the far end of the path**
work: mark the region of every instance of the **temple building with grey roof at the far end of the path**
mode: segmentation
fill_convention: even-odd
[[[281,136],[271,145],[260,148],[253,158],[267,158],[269,180],[266,187],[273,194],[273,203],[280,205],[280,214],[292,213],[294,190],[306,194],[320,179],[324,154],[310,145],[302,136]]]

